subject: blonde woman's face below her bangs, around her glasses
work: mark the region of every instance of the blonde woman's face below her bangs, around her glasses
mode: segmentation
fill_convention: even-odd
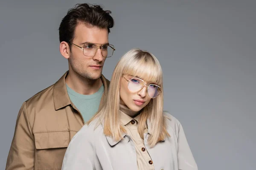
[[[121,77],[121,83],[120,83],[120,102],[122,105],[126,105],[128,108],[130,108],[132,111],[140,111],[143,109],[148,102],[150,102],[151,97],[147,94],[147,86],[148,84],[152,82],[145,82],[146,85],[139,90],[135,92],[131,92],[128,88],[128,81],[131,78],[134,78],[129,75],[123,75]],[[127,80],[126,80],[127,79]],[[136,81],[136,80],[134,80]]]

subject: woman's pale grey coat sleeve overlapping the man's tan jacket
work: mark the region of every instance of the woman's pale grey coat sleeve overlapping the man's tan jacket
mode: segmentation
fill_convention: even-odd
[[[95,170],[94,166],[94,144],[91,142],[90,134],[86,131],[86,125],[70,141],[61,170]]]

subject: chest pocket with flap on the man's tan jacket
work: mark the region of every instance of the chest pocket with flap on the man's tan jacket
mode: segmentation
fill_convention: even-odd
[[[75,133],[35,133],[35,169],[61,170],[67,146]]]

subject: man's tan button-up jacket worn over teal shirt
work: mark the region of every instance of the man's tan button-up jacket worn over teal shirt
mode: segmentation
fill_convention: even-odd
[[[65,77],[35,94],[20,108],[6,170],[60,170],[70,140],[84,125],[67,94]],[[109,81],[102,75],[107,96]]]

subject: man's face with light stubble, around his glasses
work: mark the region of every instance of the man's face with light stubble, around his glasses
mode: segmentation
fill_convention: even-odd
[[[74,32],[73,43],[81,47],[84,42],[95,44],[108,43],[108,29],[90,27],[84,23],[79,23]],[[100,45],[99,45],[100,46]],[[69,63],[76,74],[85,79],[99,79],[102,74],[102,68],[105,62],[105,57],[102,56],[101,49],[98,48],[95,56],[88,57],[83,54],[83,49],[72,45]]]

